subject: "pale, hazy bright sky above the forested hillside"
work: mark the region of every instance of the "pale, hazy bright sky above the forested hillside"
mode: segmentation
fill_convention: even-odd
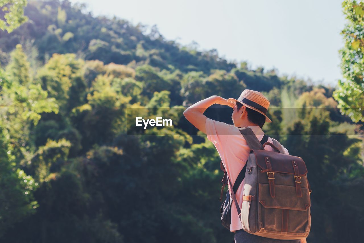
[[[314,83],[336,86],[341,78],[342,0],[70,0],[94,16],[117,16],[157,25],[167,40],[217,49],[252,69],[276,69]]]

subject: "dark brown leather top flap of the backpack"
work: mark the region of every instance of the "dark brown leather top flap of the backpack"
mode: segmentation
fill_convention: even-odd
[[[272,166],[272,171],[294,174],[294,169],[292,166],[292,161],[295,161],[298,167],[300,175],[307,174],[307,168],[305,162],[300,158],[293,155],[281,154],[275,151],[268,150],[251,150],[250,153],[254,153],[257,160],[257,165],[261,167],[262,170],[268,169],[266,166],[266,157],[269,158],[269,163]]]

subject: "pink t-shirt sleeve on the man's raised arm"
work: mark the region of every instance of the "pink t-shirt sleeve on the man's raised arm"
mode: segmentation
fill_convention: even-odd
[[[206,119],[207,140],[211,141],[219,154],[222,154],[224,146],[229,136],[231,126],[221,121],[215,121],[210,118]]]

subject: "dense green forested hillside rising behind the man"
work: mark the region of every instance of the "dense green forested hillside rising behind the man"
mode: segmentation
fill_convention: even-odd
[[[308,242],[363,238],[364,131],[336,109],[333,88],[95,18],[82,4],[29,1],[25,15],[0,32],[0,242],[232,241],[220,223],[219,155],[182,113],[245,88],[271,102],[266,134],[306,162]],[[217,108],[208,116],[232,123],[232,110]],[[127,121],[138,112],[173,126],[135,130]]]

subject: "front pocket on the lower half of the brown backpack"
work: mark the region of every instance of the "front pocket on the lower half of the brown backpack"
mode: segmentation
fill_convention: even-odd
[[[275,185],[276,196],[269,194],[269,184],[259,183],[259,202],[265,208],[306,211],[311,206],[308,188],[301,188],[302,197],[296,196],[296,187]]]

